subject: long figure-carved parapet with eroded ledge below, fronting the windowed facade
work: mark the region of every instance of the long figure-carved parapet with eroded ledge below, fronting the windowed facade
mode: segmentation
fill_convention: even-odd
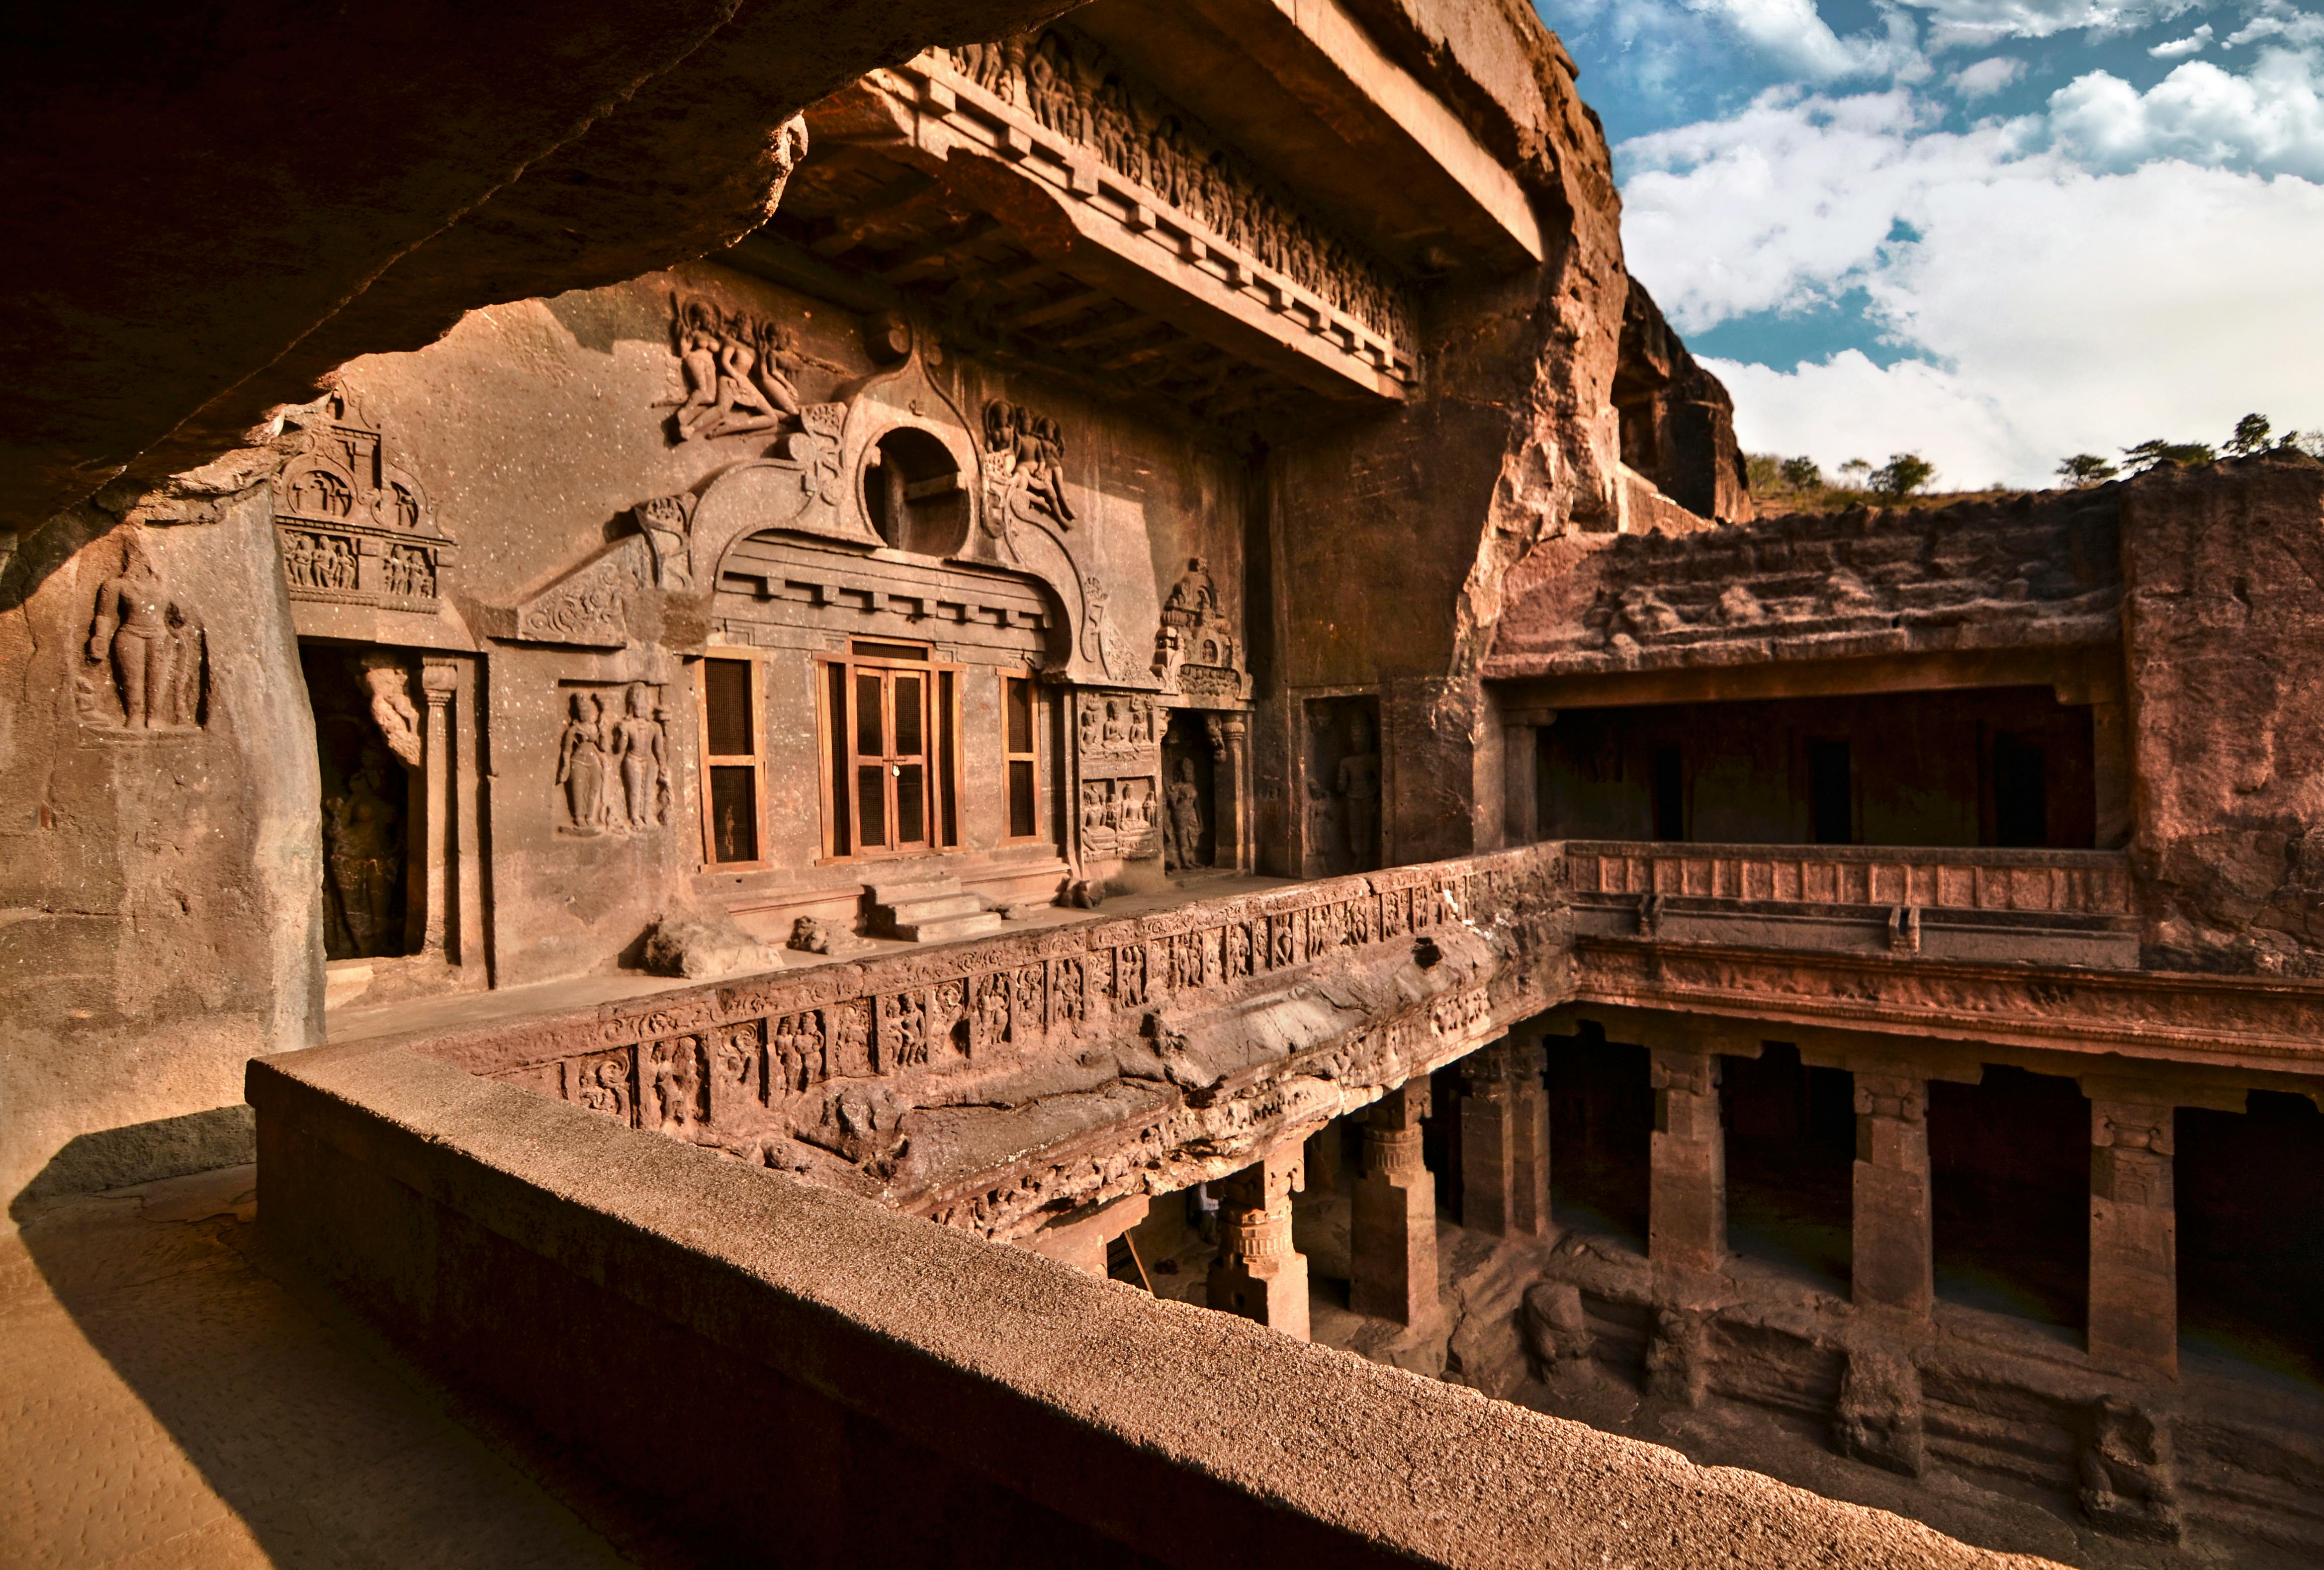
[[[1246,1166],[1559,1001],[1557,850],[686,987],[402,1045],[1013,1236]]]

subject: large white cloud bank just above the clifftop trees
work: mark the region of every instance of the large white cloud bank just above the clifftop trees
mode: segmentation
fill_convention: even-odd
[[[1827,469],[1915,448],[1954,483],[2045,483],[2064,453],[2215,441],[2250,409],[2324,425],[2324,186],[2089,170],[2033,132],[1931,132],[1882,93],[1648,139],[1624,237],[1683,330],[1862,286],[1924,355],[1715,365],[1745,446]],[[1889,239],[1899,218],[1910,239]]]

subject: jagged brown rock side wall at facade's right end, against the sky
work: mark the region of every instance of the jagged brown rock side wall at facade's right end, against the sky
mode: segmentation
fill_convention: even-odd
[[[1538,16],[1506,2],[1353,9],[1508,163],[1550,242],[1538,272],[1434,290],[1427,386],[1406,411],[1271,467],[1276,669],[1294,690],[1380,687],[1387,845],[1420,862],[1499,843],[1499,727],[1476,669],[1508,569],[1620,516],[1611,388],[1629,276],[1604,130]]]

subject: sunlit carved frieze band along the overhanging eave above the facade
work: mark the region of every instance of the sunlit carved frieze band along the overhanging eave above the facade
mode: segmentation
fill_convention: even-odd
[[[1411,302],[1387,269],[1085,39],[930,51],[874,81],[1373,376],[1418,381]]]

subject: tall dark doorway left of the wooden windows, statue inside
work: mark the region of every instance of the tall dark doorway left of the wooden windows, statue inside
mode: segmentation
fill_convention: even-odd
[[[300,643],[297,657],[323,766],[323,957],[409,955],[411,771],[372,713],[374,697],[407,694],[407,678],[381,648]]]

